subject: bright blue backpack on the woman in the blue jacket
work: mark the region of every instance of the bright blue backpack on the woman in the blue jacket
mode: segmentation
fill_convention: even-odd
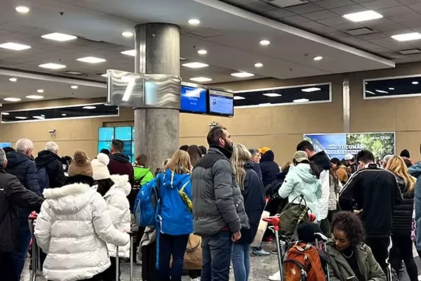
[[[159,214],[159,175],[140,188],[136,196],[135,214],[136,223],[139,226],[155,226]]]

